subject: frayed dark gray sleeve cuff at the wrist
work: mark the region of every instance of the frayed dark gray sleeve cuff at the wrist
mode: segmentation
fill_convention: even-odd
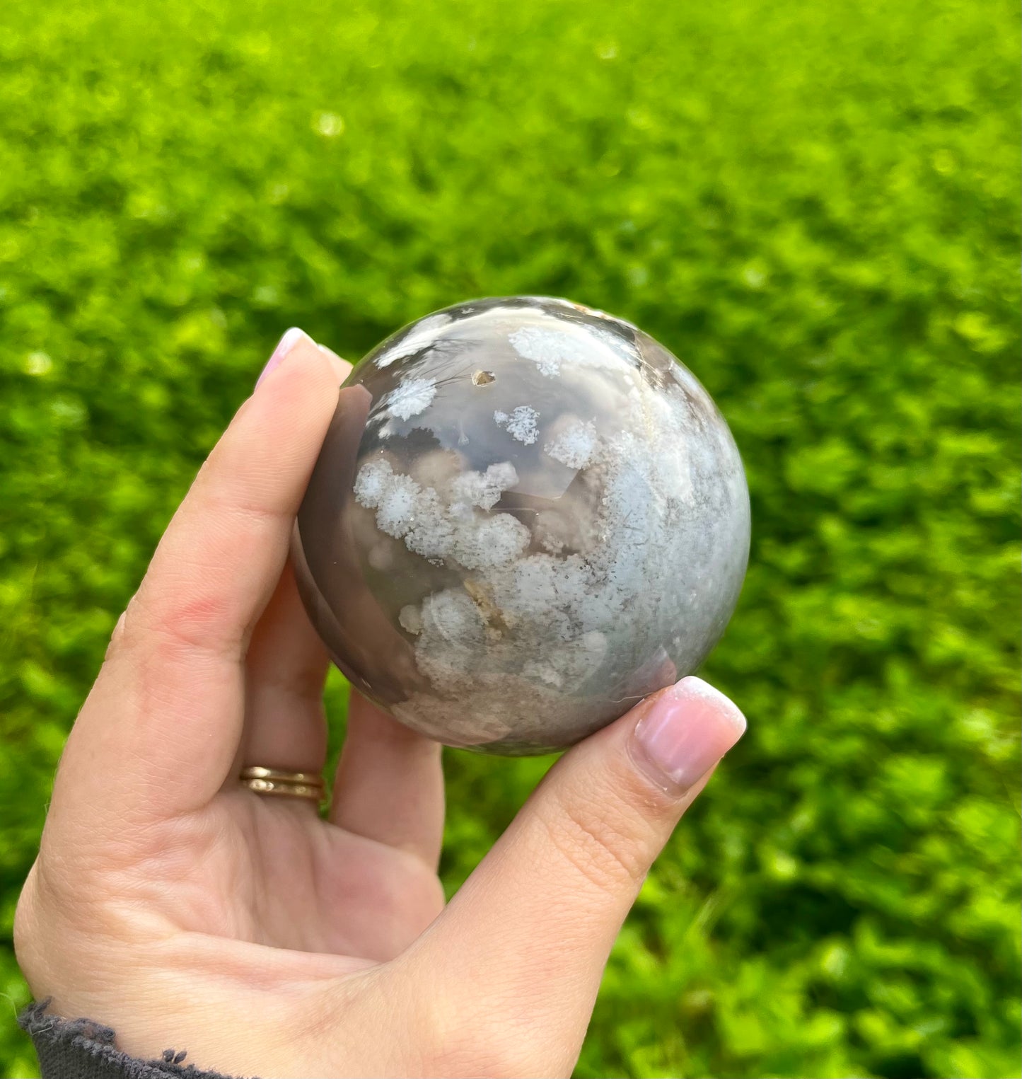
[[[109,1026],[47,1015],[49,1005],[41,1000],[18,1015],[22,1029],[36,1046],[43,1079],[229,1079],[185,1064],[184,1050],[164,1050],[158,1061],[136,1060],[118,1049]]]

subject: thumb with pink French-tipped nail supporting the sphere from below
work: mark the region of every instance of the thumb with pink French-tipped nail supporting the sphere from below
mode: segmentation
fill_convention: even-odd
[[[433,971],[451,972],[441,996],[462,1029],[467,1016],[469,1026],[496,1020],[503,1030],[527,1029],[539,1056],[522,1067],[571,1070],[568,1056],[581,1047],[611,945],[653,859],[744,732],[727,697],[686,678],[551,768],[418,942]]]

